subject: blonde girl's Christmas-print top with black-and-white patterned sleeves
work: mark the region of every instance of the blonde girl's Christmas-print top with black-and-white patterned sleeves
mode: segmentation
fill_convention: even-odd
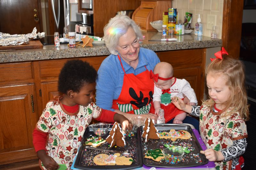
[[[223,161],[215,162],[217,170],[235,169],[238,159],[245,152],[247,145],[247,129],[239,113],[234,112],[227,117],[221,117],[217,110],[209,106],[192,106],[192,112],[200,118],[200,136],[208,149],[220,151]],[[244,165],[242,165],[244,166]]]

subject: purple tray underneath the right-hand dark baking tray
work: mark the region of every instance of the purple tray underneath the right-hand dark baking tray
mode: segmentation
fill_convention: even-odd
[[[203,142],[203,140],[201,139],[201,136],[199,135],[198,131],[196,129],[192,129],[194,134],[195,134],[195,137],[197,139],[197,141],[199,142],[199,144],[201,145],[202,149],[203,150],[206,150],[206,146]],[[204,164],[204,165],[200,165],[200,166],[193,166],[193,167],[186,167],[187,169],[189,168],[214,168],[215,167],[215,164],[213,161],[208,161],[207,164]],[[146,166],[146,165],[143,165],[143,168],[145,169],[150,169],[151,167],[149,166]],[[156,167],[156,169],[170,169],[170,168],[162,168],[162,167]]]

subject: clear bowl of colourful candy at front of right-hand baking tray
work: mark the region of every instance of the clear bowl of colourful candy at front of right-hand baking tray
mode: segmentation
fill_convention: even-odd
[[[164,154],[164,160],[168,164],[180,163],[184,155],[184,151],[177,147],[165,148],[162,152]]]

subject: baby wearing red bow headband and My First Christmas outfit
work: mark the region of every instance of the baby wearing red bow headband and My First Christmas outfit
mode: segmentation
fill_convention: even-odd
[[[179,110],[171,103],[171,97],[183,98],[183,94],[190,100],[190,105],[197,105],[196,94],[185,79],[173,77],[172,65],[166,62],[156,64],[154,72],[150,71],[150,78],[155,82],[153,104],[150,113],[158,115],[159,109],[164,109],[165,122],[174,118],[172,123],[181,124],[187,113]],[[169,122],[171,123],[171,122]]]

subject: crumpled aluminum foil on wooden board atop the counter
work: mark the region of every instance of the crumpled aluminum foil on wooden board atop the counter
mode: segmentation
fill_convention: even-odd
[[[0,32],[0,46],[8,45],[21,45],[28,44],[29,40],[44,38],[45,33],[36,33],[36,27],[33,29],[32,33],[28,34],[14,34],[1,33]]]

